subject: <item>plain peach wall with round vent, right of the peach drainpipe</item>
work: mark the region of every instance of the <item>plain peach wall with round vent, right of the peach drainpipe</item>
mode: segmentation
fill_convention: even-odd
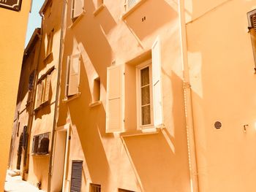
[[[200,191],[255,191],[255,63],[246,17],[255,2],[186,1]]]

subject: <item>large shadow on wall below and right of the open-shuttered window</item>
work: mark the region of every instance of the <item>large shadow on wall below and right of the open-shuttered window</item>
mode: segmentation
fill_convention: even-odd
[[[123,137],[143,191],[147,192],[190,189],[183,81],[174,73],[168,78],[173,91],[169,114],[173,116],[168,118],[173,127],[164,128],[158,134]]]

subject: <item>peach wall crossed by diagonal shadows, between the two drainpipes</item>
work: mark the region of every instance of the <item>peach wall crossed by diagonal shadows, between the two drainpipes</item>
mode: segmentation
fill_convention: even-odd
[[[102,185],[102,191],[124,188],[132,191],[189,191],[189,162],[184,116],[181,49],[178,35],[176,1],[143,1],[138,9],[122,19],[122,1],[104,1],[105,7],[95,14],[94,1],[85,1],[85,12],[75,23],[70,20],[71,1],[67,4],[64,58],[61,73],[61,100],[64,100],[67,57],[81,54],[80,95],[60,102],[58,126],[70,123],[71,139],[67,157],[70,182],[72,160],[83,161],[82,191],[89,183]],[[142,18],[146,17],[143,22]],[[151,58],[151,46],[161,39],[162,87],[165,128],[142,134],[136,130],[135,93],[132,75],[126,77],[126,133],[105,131],[107,67],[132,65]],[[129,67],[130,66],[130,67]],[[101,104],[89,107],[95,77],[101,82]],[[128,85],[129,84],[129,85]],[[135,82],[133,81],[133,84]],[[131,94],[133,96],[131,96]],[[133,97],[133,99],[132,99]],[[132,106],[133,104],[133,106]],[[130,110],[129,108],[130,107]],[[69,190],[69,185],[65,191]]]

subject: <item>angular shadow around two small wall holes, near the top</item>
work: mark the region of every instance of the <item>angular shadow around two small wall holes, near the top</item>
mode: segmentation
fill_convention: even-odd
[[[143,3],[140,9],[136,9],[124,21],[135,35],[143,40],[177,17],[176,10],[164,0],[150,0]]]

